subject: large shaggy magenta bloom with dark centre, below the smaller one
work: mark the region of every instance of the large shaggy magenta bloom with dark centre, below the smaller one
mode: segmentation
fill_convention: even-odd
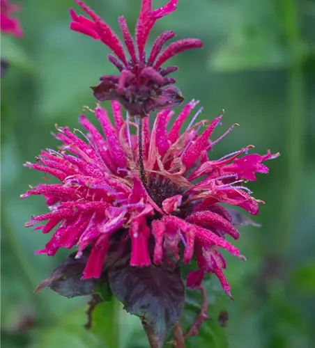
[[[214,273],[230,294],[220,248],[243,257],[226,241],[226,235],[238,239],[239,232],[233,226],[231,211],[221,204],[236,205],[256,215],[259,201],[250,196],[245,180],[253,180],[256,172],[266,173],[261,161],[279,154],[241,157],[252,148],[247,146],[209,160],[208,152],[223,137],[209,140],[222,116],[199,135],[199,129],[208,123],[203,120],[193,124],[199,110],[180,134],[196,105],[194,101],[187,104],[169,131],[167,125],[174,114],[171,109],[157,113],[152,129],[148,118],[142,121],[145,185],[139,179],[139,139],[130,132],[130,127],[137,129],[140,121],[125,122],[118,102],[112,102],[114,126],[105,109],[97,106],[94,111],[105,136],[84,115],[80,122],[88,133],[80,132],[83,140],[68,127],[57,127],[54,136],[63,143],[59,152],[48,149],[38,157],[37,164],[25,164],[59,180],[39,184],[22,195],[44,196],[50,210],[33,216],[26,226],[47,221],[36,227],[44,233],[59,226],[37,253],[55,255],[61,247],[77,246],[80,258],[91,246],[84,278],[100,277],[113,240],[116,246],[118,241],[117,259],[121,251],[131,251],[130,265],[135,267],[161,264],[163,260],[175,264],[180,255],[184,263],[190,263],[195,256],[199,270],[190,274],[187,285],[197,287],[206,272]]]

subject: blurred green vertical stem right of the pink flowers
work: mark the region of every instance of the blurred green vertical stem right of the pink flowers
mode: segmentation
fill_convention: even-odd
[[[306,114],[305,79],[303,75],[304,57],[298,23],[298,10],[295,5],[294,0],[282,0],[284,33],[292,57],[286,86],[289,116],[286,122],[286,180],[284,184],[282,216],[275,240],[277,252],[279,252],[280,246],[282,256],[288,250],[293,235],[304,165],[302,155]]]

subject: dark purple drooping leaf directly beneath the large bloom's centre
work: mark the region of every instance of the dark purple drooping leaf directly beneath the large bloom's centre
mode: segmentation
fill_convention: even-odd
[[[113,267],[109,285],[125,310],[141,318],[151,345],[155,342],[154,347],[162,347],[185,303],[180,270],[154,265]]]

